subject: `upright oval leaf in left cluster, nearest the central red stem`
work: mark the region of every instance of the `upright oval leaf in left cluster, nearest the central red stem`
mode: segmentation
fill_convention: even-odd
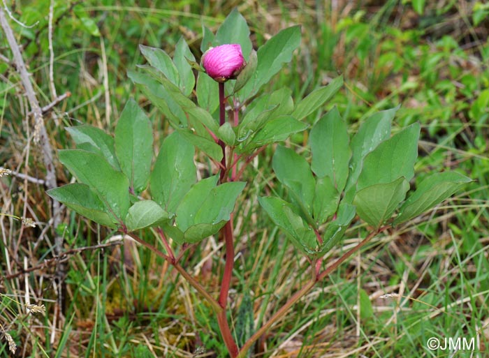
[[[178,133],[173,132],[163,140],[149,178],[153,200],[175,213],[178,204],[197,180],[194,163],[195,149]]]

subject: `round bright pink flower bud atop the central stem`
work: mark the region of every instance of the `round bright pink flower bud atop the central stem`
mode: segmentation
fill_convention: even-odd
[[[241,46],[233,43],[210,47],[202,56],[202,66],[217,82],[235,79],[246,66]]]

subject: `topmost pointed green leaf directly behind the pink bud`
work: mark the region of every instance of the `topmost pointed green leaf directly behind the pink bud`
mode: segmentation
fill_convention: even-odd
[[[227,43],[238,43],[241,46],[243,57],[247,59],[251,52],[251,39],[249,38],[249,28],[245,17],[239,13],[238,8],[234,8],[226,17],[226,20],[217,29],[214,45],[225,45]]]

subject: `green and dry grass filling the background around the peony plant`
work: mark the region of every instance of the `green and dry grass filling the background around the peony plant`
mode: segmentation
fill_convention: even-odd
[[[50,103],[47,14],[50,1],[16,3],[13,15],[31,29],[12,23],[24,45],[24,59],[42,104]],[[46,118],[50,142],[71,147],[65,126],[87,123],[113,132],[125,101],[145,105],[157,141],[168,129],[161,114],[126,77],[143,63],[140,43],[173,52],[184,36],[199,54],[200,27],[217,28],[239,7],[252,29],[255,45],[292,24],[302,24],[302,45],[271,87],[289,87],[298,100],[337,73],[346,86],[330,101],[351,124],[368,114],[401,104],[395,124],[423,126],[418,180],[428,169],[452,168],[474,183],[435,211],[375,238],[361,254],[342,264],[321,287],[309,292],[289,315],[258,341],[254,357],[437,357],[430,337],[475,337],[485,355],[489,340],[488,262],[488,101],[487,20],[475,26],[469,1],[430,3],[422,15],[409,3],[386,1],[289,1],[95,3],[78,8],[56,2],[54,84],[71,92]],[[76,11],[75,11],[76,10]],[[101,36],[96,37],[96,24]],[[101,45],[103,43],[103,46]],[[6,43],[2,47],[6,48]],[[9,51],[2,52],[9,57]],[[0,163],[43,179],[38,147],[28,144],[24,98],[15,70],[0,62]],[[103,83],[108,82],[105,88]],[[307,119],[314,123],[321,113]],[[293,137],[301,149],[305,138]],[[307,150],[307,149],[306,149]],[[251,297],[255,323],[265,320],[307,281],[307,262],[286,244],[257,203],[258,195],[281,191],[270,170],[272,149],[251,166],[247,200],[238,208],[238,237],[231,291],[230,322],[238,322],[242,292]],[[203,168],[207,167],[205,163]],[[61,166],[59,183],[70,180]],[[56,262],[33,271],[53,257],[50,207],[45,188],[20,177],[0,179],[1,213],[31,217],[37,228],[22,228],[0,217],[0,324],[17,344],[17,357],[226,357],[212,309],[175,271],[153,253],[134,244],[91,249],[115,232],[66,213],[59,228],[66,250],[67,306],[56,304]],[[366,228],[356,225],[325,262],[351,248]],[[155,239],[151,233],[145,236]],[[156,242],[156,241],[155,241]],[[210,238],[184,258],[184,267],[211,292],[224,269],[221,243]],[[200,259],[204,258],[204,259]],[[382,298],[384,294],[397,294]],[[45,304],[45,315],[25,310],[25,297]],[[246,313],[246,312],[245,312]],[[250,312],[248,312],[250,314]],[[455,357],[474,357],[458,351]],[[9,357],[0,331],[0,357]]]

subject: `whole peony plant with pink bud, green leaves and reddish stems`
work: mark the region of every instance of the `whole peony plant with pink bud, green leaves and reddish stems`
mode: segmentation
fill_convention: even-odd
[[[129,71],[129,77],[173,127],[158,155],[153,160],[151,122],[129,100],[114,137],[87,125],[66,128],[76,148],[59,151],[59,160],[76,182],[48,191],[78,214],[129,235],[171,264],[212,306],[233,358],[247,357],[293,304],[372,237],[423,214],[470,181],[456,172],[441,172],[412,189],[420,126],[411,124],[391,135],[397,108],[373,114],[353,134],[336,107],[309,125],[341,89],[342,77],[302,99],[294,100],[286,88],[263,92],[299,44],[300,27],[289,27],[255,52],[245,19],[233,10],[215,35],[204,27],[200,65],[184,40],[173,58],[141,45],[147,65]],[[306,130],[311,161],[284,145]],[[233,333],[228,295],[235,268],[235,207],[238,200],[248,200],[244,192],[257,179],[246,177],[246,169],[265,147],[274,151],[271,165],[284,194],[261,196],[258,202],[272,225],[307,258],[312,278],[261,327],[253,327],[251,309],[240,311]],[[213,163],[210,176],[200,180],[196,150]],[[364,221],[370,234],[342,257],[323,262],[357,221]],[[157,244],[141,236],[149,228]],[[224,241],[226,260],[217,295],[181,260],[212,235]]]

